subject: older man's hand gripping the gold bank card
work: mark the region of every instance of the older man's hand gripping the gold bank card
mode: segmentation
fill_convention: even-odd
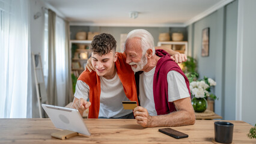
[[[147,109],[138,106],[133,110],[133,112],[138,124],[142,125],[142,127],[150,127],[152,116],[148,114]]]

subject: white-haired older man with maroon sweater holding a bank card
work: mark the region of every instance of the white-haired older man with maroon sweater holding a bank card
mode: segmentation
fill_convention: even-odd
[[[143,127],[195,124],[189,81],[168,53],[154,49],[152,35],[144,29],[129,32],[124,52],[126,63],[138,72],[140,106],[133,111],[137,123]]]

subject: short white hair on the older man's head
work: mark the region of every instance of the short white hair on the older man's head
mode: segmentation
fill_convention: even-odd
[[[150,32],[146,31],[145,29],[134,29],[133,31],[130,31],[127,35],[126,42],[127,40],[129,40],[129,38],[133,37],[138,37],[141,39],[142,55],[145,55],[148,49],[152,49],[154,55],[154,38],[150,34]],[[126,44],[124,44],[124,50],[126,50],[125,45]]]

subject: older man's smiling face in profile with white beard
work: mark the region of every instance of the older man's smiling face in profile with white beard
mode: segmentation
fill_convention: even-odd
[[[126,41],[126,63],[131,65],[134,72],[141,71],[147,64],[147,57],[142,55],[141,40],[130,38]]]

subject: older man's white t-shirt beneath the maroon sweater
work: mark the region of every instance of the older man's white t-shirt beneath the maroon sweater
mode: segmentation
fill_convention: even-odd
[[[153,79],[154,71],[152,70],[142,73],[139,76],[139,100],[141,106],[148,110],[148,114],[156,116],[156,107],[154,106],[154,95],[153,95]],[[172,102],[181,98],[190,97],[189,91],[187,90],[186,82],[184,77],[177,71],[169,71],[167,74],[168,82],[168,101]]]

